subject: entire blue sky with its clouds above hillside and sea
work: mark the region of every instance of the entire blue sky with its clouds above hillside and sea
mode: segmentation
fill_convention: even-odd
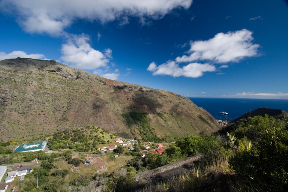
[[[186,97],[288,99],[287,20],[284,0],[1,0],[0,60]]]

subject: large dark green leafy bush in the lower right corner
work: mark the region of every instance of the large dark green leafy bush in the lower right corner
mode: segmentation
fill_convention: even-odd
[[[263,128],[258,130],[259,140],[252,146],[240,143],[229,164],[247,186],[251,184],[258,191],[285,191],[288,188],[288,118],[286,126],[275,123],[274,118],[264,124],[266,118],[256,117],[256,125],[262,122]]]

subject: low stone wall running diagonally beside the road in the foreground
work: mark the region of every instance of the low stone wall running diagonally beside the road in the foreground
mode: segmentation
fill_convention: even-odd
[[[135,178],[136,178],[136,181],[140,181],[143,178],[150,177],[150,176],[156,176],[156,175],[158,175],[160,173],[164,173],[166,171],[175,169],[177,167],[181,167],[182,165],[189,164],[189,163],[191,163],[193,161],[196,161],[196,160],[198,160],[200,158],[202,158],[202,155],[194,155],[194,156],[191,156],[191,157],[188,157],[188,158],[185,158],[185,159],[182,159],[182,160],[175,161],[173,163],[164,165],[162,167],[158,167],[156,169],[152,169],[152,170],[149,170],[149,171],[145,171],[145,172],[139,173],[139,174],[137,174],[135,176]]]

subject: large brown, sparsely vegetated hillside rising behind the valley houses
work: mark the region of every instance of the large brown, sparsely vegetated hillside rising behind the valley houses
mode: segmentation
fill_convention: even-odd
[[[220,128],[207,111],[169,91],[105,79],[53,60],[0,61],[1,140],[86,125],[146,140]]]

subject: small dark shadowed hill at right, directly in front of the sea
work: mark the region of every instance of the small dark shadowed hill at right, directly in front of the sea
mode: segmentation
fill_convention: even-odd
[[[261,107],[258,109],[255,109],[251,112],[247,112],[244,113],[243,115],[241,115],[240,117],[234,119],[231,121],[231,123],[235,123],[237,121],[239,121],[240,119],[246,119],[248,120],[248,117],[254,117],[254,116],[262,116],[264,117],[265,114],[267,114],[268,116],[272,116],[275,119],[284,119],[285,117],[287,117],[287,112],[280,110],[280,109],[270,109],[267,107]]]

